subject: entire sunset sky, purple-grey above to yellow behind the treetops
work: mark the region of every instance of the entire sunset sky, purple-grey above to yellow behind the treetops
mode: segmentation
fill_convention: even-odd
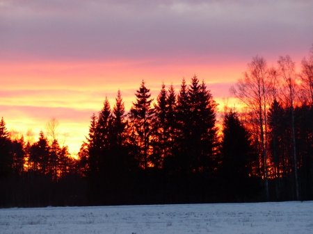
[[[0,117],[35,139],[56,118],[77,153],[90,117],[125,108],[144,80],[156,99],[162,82],[179,91],[198,76],[223,107],[247,64],[300,67],[313,44],[310,0],[0,0]]]

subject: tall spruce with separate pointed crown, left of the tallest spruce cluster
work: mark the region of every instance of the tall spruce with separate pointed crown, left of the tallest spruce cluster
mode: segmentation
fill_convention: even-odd
[[[138,136],[138,147],[140,147],[140,154],[137,156],[141,167],[147,169],[149,156],[151,154],[151,141],[150,136],[152,134],[152,118],[154,116],[154,110],[151,108],[150,89],[145,87],[145,82],[141,83],[141,87],[136,91],[136,102],[131,107],[130,114],[131,119],[134,120],[134,130]],[[134,142],[135,143],[135,142]]]

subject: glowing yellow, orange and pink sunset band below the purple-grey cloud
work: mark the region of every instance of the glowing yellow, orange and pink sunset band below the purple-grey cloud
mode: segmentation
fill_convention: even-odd
[[[77,65],[38,62],[29,66],[1,66],[0,72],[5,77],[0,91],[1,116],[9,131],[25,135],[31,128],[35,140],[40,130],[45,131],[49,119],[56,118],[61,133],[68,134],[65,144],[70,153],[75,154],[86,140],[90,117],[102,109],[105,97],[108,97],[113,108],[118,89],[128,111],[142,80],[156,101],[162,82],[166,87],[172,83],[178,93],[182,79],[189,83],[196,74],[200,81],[204,79],[207,83],[219,106],[223,106],[223,98],[230,96],[228,90],[233,83],[232,76],[241,74],[236,67],[163,66],[157,69],[139,66],[140,63],[129,65],[126,62]],[[197,72],[190,73],[188,70]]]

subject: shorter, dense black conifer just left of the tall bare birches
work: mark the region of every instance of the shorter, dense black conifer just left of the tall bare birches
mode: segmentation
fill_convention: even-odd
[[[223,119],[220,153],[222,163],[220,174],[223,179],[227,201],[238,201],[252,192],[252,166],[257,162],[257,154],[251,145],[250,133],[239,121],[237,112],[225,112]]]

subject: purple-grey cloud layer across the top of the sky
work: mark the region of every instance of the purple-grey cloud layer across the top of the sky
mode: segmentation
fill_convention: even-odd
[[[306,53],[312,9],[312,1],[0,1],[0,59],[214,62]]]

